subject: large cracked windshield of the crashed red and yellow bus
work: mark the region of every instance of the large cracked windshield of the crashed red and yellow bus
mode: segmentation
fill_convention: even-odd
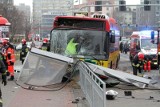
[[[51,51],[65,56],[104,59],[105,31],[54,29],[51,32]],[[72,44],[74,46],[68,46]],[[67,48],[72,53],[67,52]],[[74,51],[74,53],[73,53]]]

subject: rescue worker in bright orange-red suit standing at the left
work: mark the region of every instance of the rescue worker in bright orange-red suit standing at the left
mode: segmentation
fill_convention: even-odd
[[[14,47],[10,42],[7,43],[8,48],[6,49],[6,62],[8,65],[8,72],[10,74],[10,78],[8,80],[14,80],[14,63],[15,63],[15,55],[14,55]]]

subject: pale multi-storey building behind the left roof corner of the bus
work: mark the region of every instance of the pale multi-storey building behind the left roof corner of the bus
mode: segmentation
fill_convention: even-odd
[[[73,0],[33,0],[33,29],[35,33],[40,34],[40,36],[45,36],[43,32],[45,29],[50,27],[50,24],[43,25],[44,20],[46,20],[46,15],[48,13],[55,13],[53,16],[57,16],[57,13],[61,14],[71,14],[73,6]],[[53,19],[52,15],[50,17]],[[52,20],[53,23],[53,20]],[[46,28],[45,28],[46,27]],[[48,32],[49,33],[49,32]]]

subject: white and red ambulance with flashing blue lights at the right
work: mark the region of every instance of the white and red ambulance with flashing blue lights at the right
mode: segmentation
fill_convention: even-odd
[[[138,53],[142,52],[151,60],[151,66],[157,66],[157,44],[152,43],[151,32],[153,30],[134,31],[130,36],[130,61]],[[157,34],[155,35],[157,36]],[[156,39],[155,39],[156,40]]]

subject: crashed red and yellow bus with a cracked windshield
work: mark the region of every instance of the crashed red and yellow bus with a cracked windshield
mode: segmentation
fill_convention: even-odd
[[[50,51],[116,69],[120,59],[119,34],[113,18],[57,16],[50,33]],[[78,44],[80,48],[74,55],[65,53],[71,38],[83,41]]]

